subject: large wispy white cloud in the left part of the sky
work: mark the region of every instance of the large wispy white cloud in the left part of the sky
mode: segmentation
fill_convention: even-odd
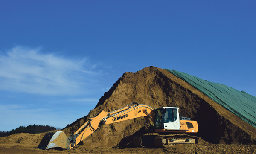
[[[40,49],[15,47],[0,55],[0,90],[44,95],[73,95],[99,75],[88,58],[72,60]]]

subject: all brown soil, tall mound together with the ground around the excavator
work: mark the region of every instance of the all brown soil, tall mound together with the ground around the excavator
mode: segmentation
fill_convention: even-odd
[[[77,119],[62,131],[70,136],[101,110],[111,112],[132,102],[147,104],[153,108],[179,107],[183,116],[198,122],[198,133],[194,135],[199,137],[199,143],[167,148],[134,148],[131,145],[132,138],[144,134],[148,126],[144,123],[144,118],[137,118],[103,125],[99,132],[84,139],[83,145],[69,151],[44,151],[36,148],[44,133],[0,137],[0,154],[256,153],[256,128],[169,71],[152,66],[135,73],[124,73],[87,116]]]

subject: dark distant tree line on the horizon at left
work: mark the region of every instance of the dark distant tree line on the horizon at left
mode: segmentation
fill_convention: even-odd
[[[12,131],[0,131],[0,137],[6,137],[12,134],[17,133],[30,133],[30,134],[37,134],[37,133],[44,133],[47,131],[57,130],[56,127],[51,127],[48,125],[28,125],[28,126],[20,126],[16,129],[12,129]]]

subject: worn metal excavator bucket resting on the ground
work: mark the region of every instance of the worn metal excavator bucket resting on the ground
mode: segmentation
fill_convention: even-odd
[[[38,145],[39,149],[47,150],[49,148],[64,148],[69,146],[69,139],[63,131],[46,133]]]

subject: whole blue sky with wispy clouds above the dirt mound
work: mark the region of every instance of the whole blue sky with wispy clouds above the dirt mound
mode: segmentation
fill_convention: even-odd
[[[0,131],[64,128],[155,66],[256,96],[253,0],[1,0]]]

